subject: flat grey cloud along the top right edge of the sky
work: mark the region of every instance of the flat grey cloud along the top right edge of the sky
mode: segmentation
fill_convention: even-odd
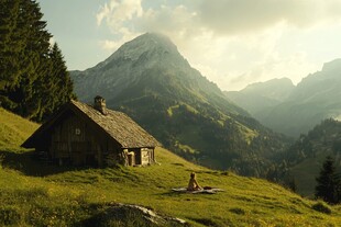
[[[308,27],[341,16],[338,0],[201,0],[196,7],[199,23],[224,35],[262,31],[283,22]]]

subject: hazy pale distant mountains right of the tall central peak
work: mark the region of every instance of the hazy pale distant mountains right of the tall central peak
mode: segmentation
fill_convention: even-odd
[[[226,94],[265,126],[296,137],[324,118],[341,118],[341,59],[324,64],[296,87],[289,79],[275,79]]]

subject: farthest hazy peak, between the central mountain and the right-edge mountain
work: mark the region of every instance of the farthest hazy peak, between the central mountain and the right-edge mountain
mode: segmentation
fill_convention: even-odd
[[[284,102],[295,86],[288,78],[252,83],[241,91],[226,91],[227,97],[253,116]]]

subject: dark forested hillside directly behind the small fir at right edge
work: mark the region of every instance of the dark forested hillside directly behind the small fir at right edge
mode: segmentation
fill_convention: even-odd
[[[316,178],[327,156],[334,158],[341,172],[341,122],[332,118],[324,120],[307,134],[301,134],[285,152],[287,173],[294,175],[298,193],[314,195]]]

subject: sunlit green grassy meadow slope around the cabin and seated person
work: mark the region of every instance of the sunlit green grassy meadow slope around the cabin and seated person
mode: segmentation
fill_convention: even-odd
[[[0,109],[0,226],[147,226],[112,204],[138,204],[190,226],[341,226],[341,206],[310,201],[265,180],[213,171],[156,149],[158,164],[140,168],[61,168],[20,148],[36,128]],[[172,192],[190,172],[217,194]],[[110,215],[108,215],[110,214]],[[110,216],[110,217],[109,217]],[[175,225],[168,225],[175,226]]]

